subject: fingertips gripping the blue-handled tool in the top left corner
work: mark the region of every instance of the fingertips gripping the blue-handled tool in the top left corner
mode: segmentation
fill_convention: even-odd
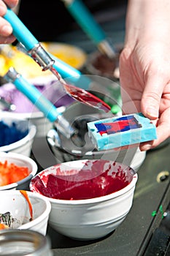
[[[15,41],[15,37],[12,34],[12,26],[3,18],[7,12],[6,4],[13,8],[18,4],[18,0],[0,0],[0,44],[10,44]]]

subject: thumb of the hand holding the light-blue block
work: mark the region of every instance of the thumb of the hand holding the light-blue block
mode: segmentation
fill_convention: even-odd
[[[141,100],[141,109],[144,116],[150,119],[156,119],[159,116],[159,107],[165,80],[155,75],[147,80]]]

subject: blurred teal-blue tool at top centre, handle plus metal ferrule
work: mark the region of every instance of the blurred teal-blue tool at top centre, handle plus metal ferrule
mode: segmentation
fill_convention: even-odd
[[[101,26],[93,18],[85,4],[81,0],[61,0],[70,12],[73,18],[77,21],[83,31],[93,40],[101,53],[107,55],[110,59],[116,55],[116,50],[109,43],[106,34]]]

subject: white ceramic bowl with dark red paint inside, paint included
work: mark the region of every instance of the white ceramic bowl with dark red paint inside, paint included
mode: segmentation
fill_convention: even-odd
[[[99,176],[100,172],[107,176]],[[128,184],[106,192],[117,186],[117,181],[112,184],[115,173]],[[30,189],[50,200],[49,223],[55,230],[70,238],[90,240],[106,236],[123,222],[133,203],[137,177],[131,167],[117,162],[78,160],[42,170],[32,178]]]

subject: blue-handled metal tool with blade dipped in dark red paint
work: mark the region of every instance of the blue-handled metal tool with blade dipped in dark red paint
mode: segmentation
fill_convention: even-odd
[[[13,34],[28,50],[28,53],[42,67],[42,71],[49,69],[56,78],[61,83],[61,86],[66,90],[66,93],[69,94],[74,99],[77,99],[80,102],[83,102],[87,105],[92,106],[93,108],[98,108],[104,111],[109,111],[110,107],[103,102],[98,97],[90,94],[90,92],[80,89],[72,84],[66,83],[65,80],[57,71],[55,66],[55,60],[50,57],[47,51],[42,47],[40,42],[31,34],[31,32],[26,28],[26,26],[21,22],[15,12],[12,12],[9,7],[7,7],[7,12],[4,15],[4,18],[11,24],[13,29]]]

